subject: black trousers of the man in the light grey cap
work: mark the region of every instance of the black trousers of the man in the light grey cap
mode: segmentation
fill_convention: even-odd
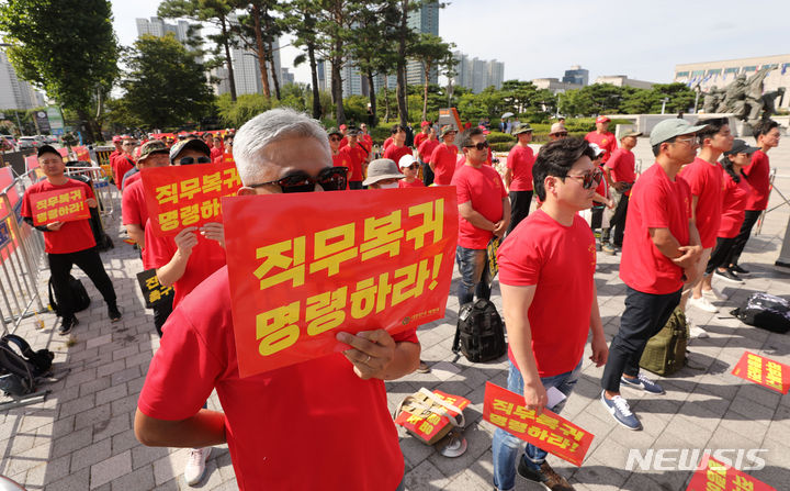
[[[639,362],[647,341],[667,323],[680,303],[682,288],[674,293],[651,294],[625,287],[625,312],[620,317],[620,331],[609,345],[609,359],[603,368],[601,387],[620,392],[620,378],[636,377]]]

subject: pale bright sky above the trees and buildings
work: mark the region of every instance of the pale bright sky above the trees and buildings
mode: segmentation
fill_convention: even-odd
[[[119,41],[131,45],[135,19],[156,15],[159,0],[112,3]],[[453,0],[439,13],[439,35],[470,57],[504,62],[505,80],[562,78],[580,65],[590,82],[600,75],[668,82],[679,63],[790,53],[789,20],[787,0]],[[309,82],[306,64],[293,68],[298,53],[283,47],[282,65]]]

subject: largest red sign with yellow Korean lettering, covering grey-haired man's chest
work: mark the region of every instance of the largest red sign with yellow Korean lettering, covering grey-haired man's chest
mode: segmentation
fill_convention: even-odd
[[[348,349],[444,316],[458,242],[453,188],[226,198],[239,373]]]

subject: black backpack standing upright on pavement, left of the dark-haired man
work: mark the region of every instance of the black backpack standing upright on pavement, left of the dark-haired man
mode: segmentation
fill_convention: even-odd
[[[460,350],[472,362],[488,361],[507,353],[505,325],[494,303],[478,299],[461,306],[452,349],[456,354]]]

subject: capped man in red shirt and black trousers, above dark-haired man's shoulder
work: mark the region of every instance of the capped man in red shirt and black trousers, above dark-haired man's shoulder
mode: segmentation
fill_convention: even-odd
[[[512,134],[518,142],[508,153],[505,171],[505,187],[510,191],[511,209],[508,234],[529,214],[532,204],[532,164],[534,163],[534,155],[529,146],[532,141],[532,126],[528,123],[519,124]]]

